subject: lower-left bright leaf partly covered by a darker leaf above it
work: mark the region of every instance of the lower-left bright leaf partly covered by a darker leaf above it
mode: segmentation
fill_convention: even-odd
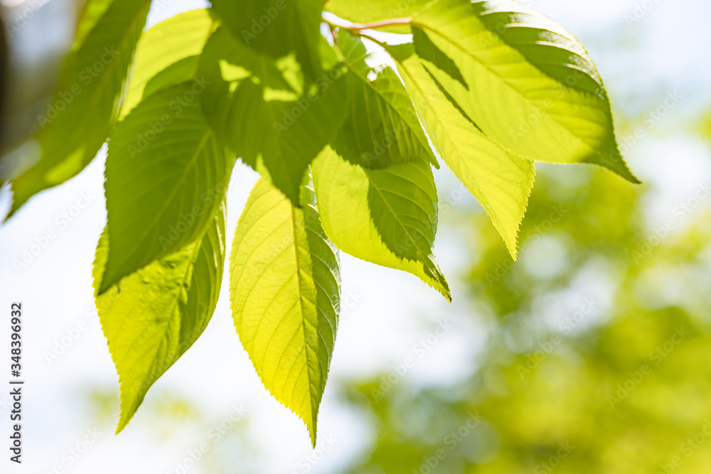
[[[107,262],[107,227],[99,239],[93,276],[100,287]],[[203,236],[125,276],[96,298],[109,352],[121,384],[122,431],[146,392],[200,337],[220,294],[225,262],[225,206]]]

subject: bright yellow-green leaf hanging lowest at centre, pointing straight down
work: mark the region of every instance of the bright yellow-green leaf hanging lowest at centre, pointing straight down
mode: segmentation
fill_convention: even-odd
[[[301,203],[296,208],[264,178],[257,181],[232,241],[230,301],[264,387],[304,420],[316,446],[341,276],[306,186]]]

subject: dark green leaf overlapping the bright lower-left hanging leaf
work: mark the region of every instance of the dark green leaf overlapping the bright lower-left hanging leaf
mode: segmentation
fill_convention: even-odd
[[[225,195],[235,160],[205,121],[199,81],[144,99],[120,122],[106,159],[111,230],[99,293],[198,239]]]

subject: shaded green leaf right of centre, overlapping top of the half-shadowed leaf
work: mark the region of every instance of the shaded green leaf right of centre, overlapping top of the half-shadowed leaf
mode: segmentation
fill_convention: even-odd
[[[339,32],[338,48],[348,65],[353,99],[346,122],[331,144],[333,149],[365,168],[417,160],[438,166],[412,100],[395,70],[370,68],[365,63],[365,45],[347,31]]]

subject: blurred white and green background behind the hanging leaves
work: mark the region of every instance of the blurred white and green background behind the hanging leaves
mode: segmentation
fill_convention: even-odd
[[[711,4],[525,3],[587,46],[643,185],[537,163],[514,264],[474,198],[438,171],[435,253],[454,303],[409,274],[342,256],[343,311],[312,450],[301,421],[262,387],[225,291],[203,336],[114,436],[118,377],[90,278],[106,219],[102,151],[0,227],[0,308],[23,303],[26,379],[24,463],[3,456],[0,471],[709,472]],[[0,4],[0,80],[11,90],[0,146],[19,159],[36,153],[27,139],[78,6]],[[149,24],[201,6],[156,0]],[[230,229],[255,179],[237,166]],[[4,188],[0,215],[8,208]],[[56,238],[40,245],[48,232]],[[1,433],[8,411],[2,389]]]

